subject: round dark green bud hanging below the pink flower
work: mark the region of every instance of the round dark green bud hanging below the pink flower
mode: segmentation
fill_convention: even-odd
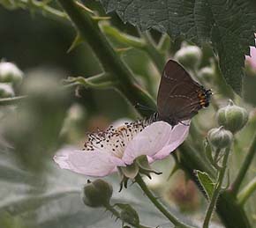
[[[113,188],[105,180],[97,179],[93,182],[88,180],[84,187],[83,202],[92,208],[103,207],[109,204]]]

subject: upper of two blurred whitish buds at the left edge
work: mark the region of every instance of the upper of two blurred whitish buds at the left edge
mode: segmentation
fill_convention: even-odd
[[[14,63],[0,63],[0,82],[20,84],[23,72]]]

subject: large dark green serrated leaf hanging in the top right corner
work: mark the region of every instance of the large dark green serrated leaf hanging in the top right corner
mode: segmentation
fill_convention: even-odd
[[[197,44],[210,42],[227,84],[241,92],[245,55],[254,46],[256,12],[248,0],[99,0],[124,22],[145,31],[154,28]]]

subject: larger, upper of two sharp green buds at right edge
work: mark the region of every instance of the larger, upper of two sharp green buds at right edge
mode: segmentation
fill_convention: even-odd
[[[222,107],[217,113],[219,125],[236,133],[242,129],[248,121],[248,112],[243,107],[237,107],[230,99],[228,106]]]

